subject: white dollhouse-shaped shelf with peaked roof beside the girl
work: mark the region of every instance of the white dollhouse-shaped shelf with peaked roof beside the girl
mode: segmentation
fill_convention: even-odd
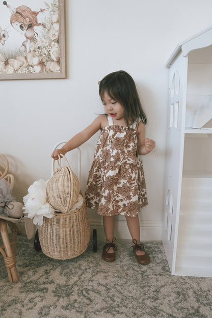
[[[169,68],[163,243],[172,275],[212,277],[212,26],[181,42]],[[208,112],[209,113],[209,112]]]

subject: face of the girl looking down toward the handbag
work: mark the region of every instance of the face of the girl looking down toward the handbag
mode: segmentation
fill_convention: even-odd
[[[115,120],[124,119],[124,108],[123,106],[111,98],[106,92],[103,94],[103,105],[104,111],[107,115],[113,117]]]

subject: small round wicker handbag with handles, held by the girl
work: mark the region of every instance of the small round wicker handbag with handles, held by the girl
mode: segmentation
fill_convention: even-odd
[[[71,170],[66,157],[58,155],[59,169],[55,170],[53,164],[53,176],[48,180],[46,195],[48,203],[61,213],[67,213],[77,202],[80,194],[80,181]],[[67,166],[61,167],[61,157],[65,158]]]

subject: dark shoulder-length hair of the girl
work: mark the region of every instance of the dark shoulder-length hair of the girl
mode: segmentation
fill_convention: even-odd
[[[103,100],[104,93],[118,101],[124,107],[124,118],[127,127],[140,118],[147,123],[141,101],[133,77],[125,71],[117,71],[106,75],[99,84],[99,96]]]

